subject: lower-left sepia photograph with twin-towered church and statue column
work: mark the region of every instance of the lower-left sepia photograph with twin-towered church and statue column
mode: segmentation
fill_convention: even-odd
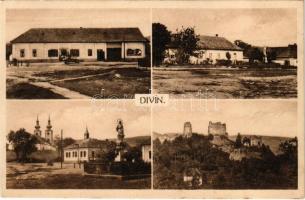
[[[7,108],[7,189],[151,188],[150,109],[86,101]]]

